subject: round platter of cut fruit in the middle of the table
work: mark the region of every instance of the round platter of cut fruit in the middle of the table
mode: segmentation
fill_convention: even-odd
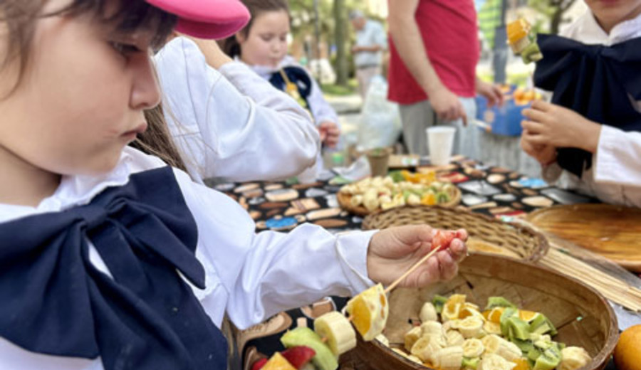
[[[457,206],[461,191],[450,182],[437,181],[434,172],[415,174],[404,170],[345,185],[337,198],[343,209],[366,216],[405,205]]]

